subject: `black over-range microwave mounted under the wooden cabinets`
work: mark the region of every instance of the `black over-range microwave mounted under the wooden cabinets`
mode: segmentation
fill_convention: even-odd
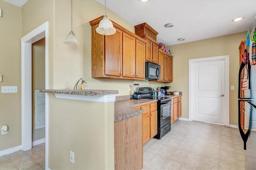
[[[146,62],[146,78],[145,79],[160,79],[160,65]]]

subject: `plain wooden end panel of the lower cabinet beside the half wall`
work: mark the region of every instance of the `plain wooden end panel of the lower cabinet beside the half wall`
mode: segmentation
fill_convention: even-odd
[[[143,168],[142,115],[114,123],[115,170]]]

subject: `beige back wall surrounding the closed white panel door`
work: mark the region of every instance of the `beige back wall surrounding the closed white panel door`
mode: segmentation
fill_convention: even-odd
[[[182,91],[182,117],[188,118],[188,60],[229,55],[229,85],[234,85],[235,90],[230,90],[230,124],[238,125],[238,71],[239,71],[239,45],[246,38],[246,32],[231,34],[200,40],[196,42],[171,45],[173,59],[173,79],[171,89]]]

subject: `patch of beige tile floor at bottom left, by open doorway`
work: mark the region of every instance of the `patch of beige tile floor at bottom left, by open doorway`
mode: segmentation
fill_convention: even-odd
[[[0,170],[43,170],[45,161],[44,143],[31,150],[17,151],[0,157]]]

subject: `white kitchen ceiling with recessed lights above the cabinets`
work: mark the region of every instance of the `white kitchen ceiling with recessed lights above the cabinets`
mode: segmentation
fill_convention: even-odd
[[[104,0],[97,1],[104,5]],[[244,32],[256,16],[256,0],[108,0],[107,8],[134,26],[146,22],[165,45]],[[231,21],[238,16],[245,18]],[[174,27],[165,28],[168,23]],[[179,38],[186,40],[177,41]]]

